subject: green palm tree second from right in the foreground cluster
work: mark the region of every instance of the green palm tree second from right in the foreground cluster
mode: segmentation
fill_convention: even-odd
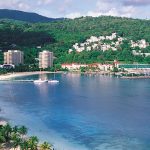
[[[31,136],[28,140],[29,148],[31,150],[37,150],[38,142],[39,140],[36,136]]]

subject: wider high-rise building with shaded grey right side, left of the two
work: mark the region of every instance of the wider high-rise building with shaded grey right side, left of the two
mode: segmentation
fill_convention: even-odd
[[[19,65],[24,63],[24,53],[20,50],[4,52],[4,64]]]

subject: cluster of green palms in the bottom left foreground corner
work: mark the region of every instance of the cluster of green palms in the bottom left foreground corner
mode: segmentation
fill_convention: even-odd
[[[36,136],[27,137],[28,129],[25,126],[0,126],[0,149],[17,148],[21,150],[52,150],[47,142],[39,144]]]

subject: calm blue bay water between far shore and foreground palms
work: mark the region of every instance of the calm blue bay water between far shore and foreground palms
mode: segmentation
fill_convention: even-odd
[[[0,117],[26,125],[29,135],[57,150],[150,150],[150,80],[79,74],[56,79],[59,84],[0,82]]]

